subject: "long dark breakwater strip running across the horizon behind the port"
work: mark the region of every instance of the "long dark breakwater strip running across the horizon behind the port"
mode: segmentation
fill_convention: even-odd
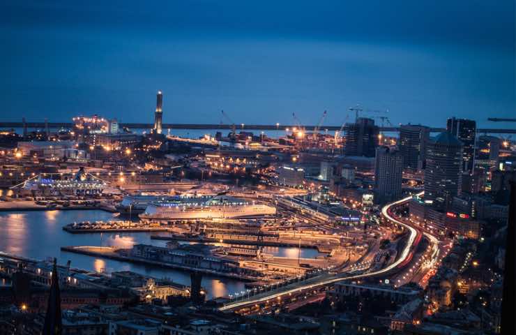
[[[45,122],[26,122],[25,125],[27,128],[45,128]],[[49,122],[48,127],[52,129],[56,128],[73,128],[74,124],[72,122]],[[144,123],[120,123],[119,126],[127,127],[130,129],[151,129],[154,124],[144,124]],[[11,122],[11,121],[0,121],[0,128],[23,128],[23,122]],[[242,124],[238,126],[238,129],[242,131],[286,131],[288,129],[292,129],[296,126],[294,125],[276,125],[276,124]],[[207,129],[217,129],[217,130],[231,130],[232,125],[230,124],[163,124],[163,129],[199,129],[199,130],[207,130]],[[314,131],[317,126],[303,126],[306,131]],[[328,131],[340,131],[340,126],[321,126],[319,127],[321,130]],[[343,131],[347,131],[348,127],[344,126],[342,128]],[[400,127],[380,127],[380,131],[383,132],[399,132]],[[446,131],[446,128],[430,128],[432,133],[441,133]],[[478,128],[477,133],[490,133],[490,134],[516,134],[516,128],[514,129],[499,129],[499,128]]]

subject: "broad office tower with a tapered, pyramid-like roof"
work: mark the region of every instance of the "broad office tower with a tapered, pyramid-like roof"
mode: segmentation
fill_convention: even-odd
[[[425,200],[437,207],[446,207],[462,184],[462,142],[444,132],[427,144],[425,168]]]

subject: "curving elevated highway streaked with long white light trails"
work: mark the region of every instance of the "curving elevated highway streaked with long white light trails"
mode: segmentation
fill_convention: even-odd
[[[418,193],[418,195],[422,195],[422,194],[423,194],[423,192]],[[415,241],[415,239],[418,235],[418,230],[412,228],[410,225],[407,225],[406,223],[403,223],[402,221],[397,220],[396,218],[394,218],[393,216],[390,215],[390,209],[392,207],[395,207],[399,204],[407,202],[407,201],[411,200],[411,198],[412,198],[412,195],[410,195],[407,198],[403,198],[401,200],[397,200],[395,202],[387,204],[384,208],[381,209],[381,213],[386,218],[388,218],[388,220],[392,221],[393,223],[396,223],[397,225],[401,225],[402,227],[409,230],[409,240],[407,241],[407,245],[402,250],[400,257],[392,264],[388,265],[387,267],[384,267],[384,269],[380,269],[378,271],[373,271],[373,272],[370,272],[367,274],[357,274],[357,275],[352,275],[352,276],[349,276],[349,274],[347,274],[345,272],[342,274],[328,274],[328,273],[321,274],[320,276],[310,278],[303,283],[294,284],[295,287],[293,287],[293,288],[289,288],[288,286],[286,286],[286,287],[284,287],[284,290],[281,290],[280,292],[265,292],[263,294],[260,293],[253,297],[250,297],[249,299],[245,299],[242,301],[234,301],[229,304],[225,304],[225,306],[222,306],[219,308],[220,311],[229,311],[229,310],[232,310],[235,308],[248,306],[250,304],[260,304],[260,303],[269,301],[271,299],[278,299],[278,298],[281,299],[281,297],[283,295],[295,294],[295,293],[298,293],[303,290],[311,290],[313,288],[319,288],[321,286],[326,286],[326,285],[336,283],[337,281],[360,279],[360,278],[366,278],[366,277],[371,277],[371,276],[379,276],[381,274],[388,274],[388,272],[390,270],[395,269],[398,265],[402,264],[403,262],[405,262],[405,260],[407,260],[407,258],[409,257],[409,255],[412,251],[411,248],[412,248],[413,242]]]

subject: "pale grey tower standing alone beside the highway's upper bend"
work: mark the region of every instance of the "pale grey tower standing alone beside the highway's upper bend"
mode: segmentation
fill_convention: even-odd
[[[374,161],[374,193],[378,203],[397,200],[402,195],[403,156],[397,149],[379,147]]]

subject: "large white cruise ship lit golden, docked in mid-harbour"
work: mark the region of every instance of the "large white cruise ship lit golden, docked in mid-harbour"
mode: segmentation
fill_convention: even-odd
[[[206,200],[206,198],[208,198]],[[227,195],[214,197],[184,198],[179,201],[151,203],[143,221],[190,220],[197,218],[244,218],[276,214],[275,207],[258,202],[232,198]]]

